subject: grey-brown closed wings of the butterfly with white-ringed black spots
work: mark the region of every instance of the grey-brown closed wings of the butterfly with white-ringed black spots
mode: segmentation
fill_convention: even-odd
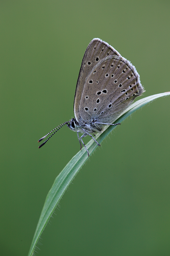
[[[143,92],[135,67],[106,42],[93,39],[84,54],[76,86],[77,121],[113,123]]]

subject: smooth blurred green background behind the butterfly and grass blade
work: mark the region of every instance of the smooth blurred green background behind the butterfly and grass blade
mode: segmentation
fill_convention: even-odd
[[[1,1],[0,254],[27,255],[45,197],[78,152],[66,126],[94,37],[135,65],[146,92],[170,91],[170,1]],[[170,98],[102,142],[60,201],[38,255],[170,254]],[[87,143],[89,138],[85,138]]]

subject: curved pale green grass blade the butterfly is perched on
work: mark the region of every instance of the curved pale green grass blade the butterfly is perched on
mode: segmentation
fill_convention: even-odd
[[[121,123],[125,118],[127,118],[129,115],[131,115],[133,112],[138,110],[139,108],[143,107],[147,103],[153,101],[156,98],[168,96],[170,95],[170,92],[166,93],[160,93],[155,94],[152,96],[145,97],[143,99],[140,99],[133,103],[130,107],[127,108],[127,110],[121,114],[121,116],[115,121],[115,123]],[[102,142],[103,139],[106,138],[106,136],[115,128],[115,126],[106,126],[105,131],[100,134],[96,135],[95,139],[99,143]],[[95,150],[97,144],[94,142],[93,139],[91,139],[86,144],[89,154],[91,155],[93,151]],[[42,234],[43,229],[45,228],[46,224],[48,223],[53,211],[55,210],[57,204],[59,203],[61,197],[63,196],[64,192],[66,191],[67,187],[69,186],[70,182],[75,178],[76,174],[78,173],[79,169],[82,167],[82,165],[85,163],[85,161],[88,159],[87,152],[85,148],[83,148],[81,151],[79,151],[64,167],[64,169],[60,172],[60,174],[57,176],[57,178],[54,181],[54,184],[52,185],[52,188],[47,194],[42,213],[39,219],[39,222],[37,224],[37,228],[33,237],[33,241],[28,253],[28,256],[33,255],[34,250],[36,248],[36,244]]]

